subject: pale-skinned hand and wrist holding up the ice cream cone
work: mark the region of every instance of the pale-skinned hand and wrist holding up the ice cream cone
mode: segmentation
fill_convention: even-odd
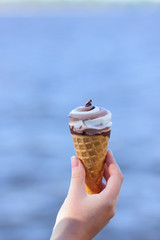
[[[51,240],[90,240],[115,215],[123,175],[112,152],[105,160],[102,191],[87,194],[85,170],[77,157],[71,158],[72,177],[68,195],[58,212]]]

